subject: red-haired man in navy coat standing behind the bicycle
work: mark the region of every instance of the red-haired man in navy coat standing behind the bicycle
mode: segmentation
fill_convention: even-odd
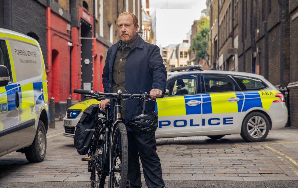
[[[121,40],[108,49],[103,68],[104,92],[139,94],[150,92],[151,99],[165,92],[167,71],[159,47],[145,42],[138,34],[138,19],[133,13],[121,13],[117,19],[117,30]],[[105,99],[100,108],[109,103]],[[122,118],[125,123],[142,113],[142,102],[138,99],[122,101]],[[155,102],[148,101],[145,113],[155,111]],[[128,136],[128,180],[131,188],[142,187],[139,157],[142,162],[146,184],[149,188],[162,188],[162,169],[156,153],[155,133],[140,134],[127,127]]]

